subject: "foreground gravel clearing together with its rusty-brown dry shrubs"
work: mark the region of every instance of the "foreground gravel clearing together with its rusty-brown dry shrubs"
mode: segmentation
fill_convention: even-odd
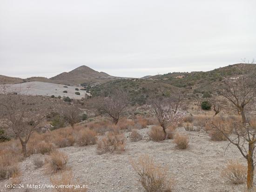
[[[4,142],[0,144],[1,165],[4,163],[0,174],[3,177],[4,169],[13,174],[7,175],[12,177],[10,179],[2,178],[0,186],[6,183],[69,183],[72,180],[71,183],[88,185],[90,192],[133,192],[144,191],[139,179],[151,186],[148,175],[152,174],[158,178],[158,187],[172,192],[245,191],[246,169],[245,173],[244,170],[240,173],[240,185],[224,175],[230,173],[226,168],[230,160],[239,162],[242,169],[246,161],[233,146],[224,154],[227,141],[216,141],[213,133],[207,131],[206,122],[205,115],[185,116],[179,125],[182,127],[174,130],[174,139],[163,140],[160,136],[158,142],[154,140],[159,135],[149,137],[154,128],[159,128],[154,118],[123,118],[117,125],[107,119],[82,123],[74,129],[67,127],[45,134],[34,133],[27,144],[29,156],[26,159],[20,153],[19,141]],[[186,131],[189,125],[196,131]],[[189,141],[185,147],[179,146],[183,141],[180,137]],[[140,173],[143,166],[143,173],[148,174],[140,178],[136,172]],[[60,181],[62,177],[64,180]],[[1,187],[1,191],[21,190]]]

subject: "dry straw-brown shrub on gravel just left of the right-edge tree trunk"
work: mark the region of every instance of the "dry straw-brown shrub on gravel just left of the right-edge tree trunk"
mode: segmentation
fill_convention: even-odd
[[[243,184],[247,178],[247,168],[238,161],[229,161],[221,176],[233,184]]]

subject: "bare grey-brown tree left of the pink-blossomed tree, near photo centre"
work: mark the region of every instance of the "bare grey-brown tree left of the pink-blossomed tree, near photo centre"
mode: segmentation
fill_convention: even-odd
[[[107,113],[115,125],[129,105],[128,94],[122,90],[115,90],[109,96],[100,98],[98,102],[98,109]]]

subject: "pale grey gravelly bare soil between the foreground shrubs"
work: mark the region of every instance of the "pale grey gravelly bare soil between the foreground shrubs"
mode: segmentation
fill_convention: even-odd
[[[211,141],[205,132],[187,132],[178,128],[179,133],[189,136],[189,148],[179,150],[173,140],[148,141],[149,128],[140,129],[142,141],[127,142],[122,154],[97,154],[96,145],[89,147],[65,147],[59,150],[69,157],[68,169],[79,179],[78,184],[89,186],[89,192],[144,192],[137,181],[137,175],[129,164],[129,158],[149,154],[157,162],[169,167],[169,175],[175,179],[173,192],[243,192],[243,185],[233,185],[220,176],[228,160],[238,160],[246,165],[238,149],[231,147],[224,154],[227,141]],[[129,133],[126,133],[128,136]],[[36,154],[40,155],[40,154]],[[28,157],[20,163],[22,182],[25,184],[50,184],[47,166],[35,169],[33,159]],[[42,155],[43,156],[43,155]],[[46,155],[44,155],[46,157]],[[58,173],[57,173],[58,174]],[[25,189],[5,189],[8,179],[0,181],[1,192],[25,192]],[[29,189],[28,192],[50,192],[47,189]]]

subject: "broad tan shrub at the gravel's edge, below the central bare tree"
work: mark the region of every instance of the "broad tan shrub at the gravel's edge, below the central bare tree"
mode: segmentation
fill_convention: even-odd
[[[101,140],[97,142],[98,154],[104,154],[107,152],[121,153],[125,150],[125,136],[124,134],[115,134],[108,132]]]

